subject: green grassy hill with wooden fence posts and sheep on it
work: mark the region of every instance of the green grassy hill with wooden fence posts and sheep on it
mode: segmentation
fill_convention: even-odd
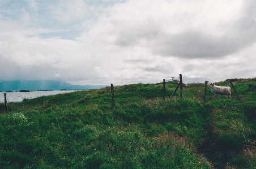
[[[256,79],[232,81],[241,102],[168,82],[1,103],[0,168],[256,168]]]

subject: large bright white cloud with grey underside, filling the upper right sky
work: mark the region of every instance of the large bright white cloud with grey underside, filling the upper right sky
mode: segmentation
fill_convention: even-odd
[[[127,1],[113,6],[78,40],[147,46],[168,57],[223,57],[255,41],[255,25],[246,34],[238,27],[247,19],[241,18],[242,7],[241,1]]]

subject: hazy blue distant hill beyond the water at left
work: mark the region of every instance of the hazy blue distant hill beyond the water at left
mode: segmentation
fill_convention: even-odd
[[[81,89],[99,89],[103,85],[73,85],[65,81],[54,80],[35,80],[35,81],[2,81],[0,91],[8,90],[81,90]]]

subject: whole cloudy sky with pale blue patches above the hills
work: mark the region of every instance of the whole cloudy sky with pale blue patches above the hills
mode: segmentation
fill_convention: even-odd
[[[254,0],[0,0],[0,81],[254,78],[255,8]]]

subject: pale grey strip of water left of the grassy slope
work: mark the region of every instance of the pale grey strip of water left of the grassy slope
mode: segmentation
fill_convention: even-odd
[[[54,91],[32,91],[32,92],[0,92],[0,103],[5,102],[5,93],[6,100],[8,102],[21,102],[24,98],[36,98],[41,96],[50,96],[60,93],[70,93],[75,92],[75,90],[54,90]]]

